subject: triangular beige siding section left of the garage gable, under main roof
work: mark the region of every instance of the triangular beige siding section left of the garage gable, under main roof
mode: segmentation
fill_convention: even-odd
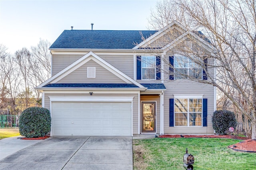
[[[60,72],[84,55],[52,55],[52,76]]]

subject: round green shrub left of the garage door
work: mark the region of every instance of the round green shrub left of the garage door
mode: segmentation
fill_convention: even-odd
[[[43,107],[29,107],[19,118],[20,135],[26,138],[44,137],[51,130],[50,111]]]

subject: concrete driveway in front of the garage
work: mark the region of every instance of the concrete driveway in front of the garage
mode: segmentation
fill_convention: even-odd
[[[132,170],[132,137],[50,137],[0,160],[0,170]]]

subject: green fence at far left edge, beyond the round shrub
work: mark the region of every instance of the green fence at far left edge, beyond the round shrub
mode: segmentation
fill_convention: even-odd
[[[0,115],[0,127],[18,127],[19,119],[17,115]]]

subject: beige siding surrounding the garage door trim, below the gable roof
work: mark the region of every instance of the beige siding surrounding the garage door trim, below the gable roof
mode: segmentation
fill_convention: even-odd
[[[49,96],[90,96],[89,92],[87,93],[76,93],[76,94],[67,94],[65,91],[63,93],[45,93],[44,94],[44,107],[50,110],[50,98]],[[134,97],[133,98],[133,121],[132,121],[132,130],[133,134],[138,134],[138,94],[101,94],[100,92],[94,92],[93,96],[98,97]]]

